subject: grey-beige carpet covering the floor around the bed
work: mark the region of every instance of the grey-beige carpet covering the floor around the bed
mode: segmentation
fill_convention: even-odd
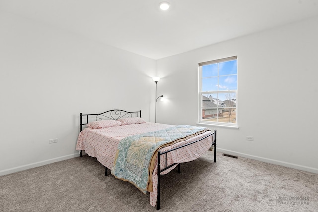
[[[149,194],[85,155],[0,177],[0,211],[148,212]],[[160,212],[317,212],[318,174],[208,151],[161,177]]]

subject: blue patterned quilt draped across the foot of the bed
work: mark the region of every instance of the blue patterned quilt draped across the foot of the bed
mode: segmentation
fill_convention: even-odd
[[[205,127],[177,125],[163,130],[138,134],[122,139],[118,144],[111,174],[129,181],[146,193],[151,159],[159,147],[208,130]],[[151,173],[150,173],[151,176]]]

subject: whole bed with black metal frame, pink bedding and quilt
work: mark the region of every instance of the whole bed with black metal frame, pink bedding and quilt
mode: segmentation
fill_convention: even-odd
[[[160,209],[160,175],[180,163],[197,159],[214,149],[216,131],[189,125],[146,122],[141,111],[109,110],[80,114],[80,133],[76,145],[105,166],[116,178],[128,181],[143,193],[150,193],[150,204]]]

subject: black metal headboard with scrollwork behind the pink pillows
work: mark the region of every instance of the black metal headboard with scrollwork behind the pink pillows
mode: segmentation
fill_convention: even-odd
[[[83,123],[83,117],[86,117],[86,122]],[[99,120],[118,120],[121,118],[129,118],[129,117],[140,117],[141,118],[141,110],[127,112],[124,110],[109,110],[103,113],[96,114],[82,114],[80,113],[80,131],[83,129],[83,125],[87,125],[89,121],[99,121]]]

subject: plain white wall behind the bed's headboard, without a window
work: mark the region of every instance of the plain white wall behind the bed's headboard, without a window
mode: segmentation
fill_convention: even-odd
[[[81,112],[142,110],[153,121],[155,69],[155,60],[0,12],[0,175],[78,156]]]

